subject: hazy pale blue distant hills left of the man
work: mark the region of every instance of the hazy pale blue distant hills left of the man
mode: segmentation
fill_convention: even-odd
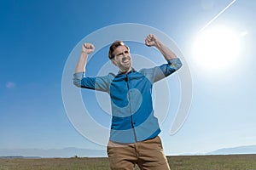
[[[3,156],[23,156],[23,157],[107,157],[106,150],[88,150],[80,148],[64,148],[64,149],[17,149],[5,150],[0,149],[0,157]]]

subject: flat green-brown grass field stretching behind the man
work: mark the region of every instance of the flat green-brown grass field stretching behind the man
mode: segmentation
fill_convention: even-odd
[[[168,156],[172,170],[256,170],[256,155]],[[108,158],[0,159],[0,170],[107,170]],[[138,169],[136,167],[136,169]]]

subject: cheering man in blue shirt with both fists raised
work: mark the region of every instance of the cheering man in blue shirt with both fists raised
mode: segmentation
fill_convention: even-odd
[[[94,51],[91,43],[84,43],[76,66],[73,83],[79,88],[107,92],[112,106],[112,125],[108,142],[111,169],[170,169],[164,155],[160,127],[154,116],[153,83],[177,71],[182,63],[176,54],[152,34],[145,39],[148,47],[159,49],[167,63],[150,69],[135,71],[131,65],[130,48],[124,42],[113,42],[108,57],[119,68],[117,75],[85,77],[88,54]]]

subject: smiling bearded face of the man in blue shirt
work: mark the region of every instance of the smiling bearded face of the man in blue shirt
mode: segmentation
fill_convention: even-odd
[[[124,73],[131,71],[131,54],[125,46],[121,45],[115,48],[113,54],[112,62],[119,67],[120,71]]]

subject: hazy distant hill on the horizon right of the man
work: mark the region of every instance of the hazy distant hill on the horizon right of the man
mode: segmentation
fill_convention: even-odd
[[[206,155],[229,155],[229,154],[256,154],[256,145],[238,146],[234,148],[223,148],[208,152]]]

